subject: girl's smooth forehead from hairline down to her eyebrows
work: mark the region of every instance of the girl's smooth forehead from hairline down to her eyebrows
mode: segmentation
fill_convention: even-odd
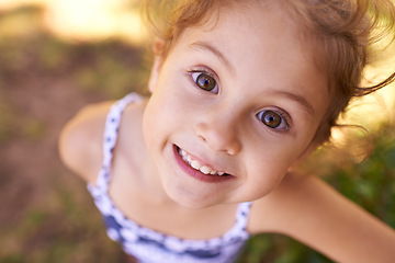
[[[325,111],[321,105],[328,104],[328,89],[315,67],[312,44],[303,41],[280,4],[262,2],[233,3],[204,25],[187,28],[170,57],[182,53],[185,59],[206,64],[202,57],[211,56],[215,71],[226,69],[235,84],[262,93],[257,95],[264,95],[266,88],[290,90],[305,96],[318,112]]]

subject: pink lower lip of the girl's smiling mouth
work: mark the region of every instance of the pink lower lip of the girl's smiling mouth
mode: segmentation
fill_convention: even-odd
[[[189,163],[187,163],[181,156],[178,152],[178,147],[174,145],[173,146],[173,152],[174,152],[174,157],[176,157],[176,161],[179,164],[179,167],[181,168],[181,170],[183,172],[185,172],[188,175],[201,181],[201,182],[205,182],[205,183],[219,183],[219,182],[225,182],[225,181],[229,181],[232,179],[234,179],[235,176],[232,175],[223,175],[223,176],[218,176],[218,175],[211,175],[211,174],[204,174],[201,171],[198,171],[193,168],[190,167]]]

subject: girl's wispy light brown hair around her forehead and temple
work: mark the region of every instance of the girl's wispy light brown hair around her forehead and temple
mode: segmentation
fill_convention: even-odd
[[[147,0],[145,13],[155,34],[165,41],[160,55],[166,57],[185,28],[206,23],[221,8],[247,2],[250,1]],[[353,98],[372,93],[395,80],[393,72],[374,85],[360,87],[364,68],[374,60],[372,46],[384,36],[394,41],[395,7],[391,0],[276,2],[294,19],[301,35],[313,41],[312,47],[319,55],[316,56],[317,67],[327,76],[331,103],[314,139],[323,144],[329,139],[331,127],[338,126],[338,116],[346,112]]]

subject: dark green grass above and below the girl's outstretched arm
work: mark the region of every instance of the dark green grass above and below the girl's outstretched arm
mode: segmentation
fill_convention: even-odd
[[[394,130],[394,124],[385,124],[377,133],[371,134],[374,149],[369,159],[362,163],[345,162],[347,163],[345,165],[331,167],[328,162],[335,158],[334,155],[319,151],[314,161],[308,162],[308,170],[318,172],[319,170],[314,170],[311,167],[318,169],[326,165],[324,179],[329,184],[392,228],[395,228]],[[239,262],[324,263],[331,261],[287,237],[259,235],[248,242]]]

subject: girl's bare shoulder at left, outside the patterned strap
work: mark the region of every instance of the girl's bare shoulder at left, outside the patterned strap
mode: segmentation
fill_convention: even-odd
[[[58,150],[61,161],[87,182],[94,182],[100,170],[105,119],[113,103],[84,106],[60,133]]]

